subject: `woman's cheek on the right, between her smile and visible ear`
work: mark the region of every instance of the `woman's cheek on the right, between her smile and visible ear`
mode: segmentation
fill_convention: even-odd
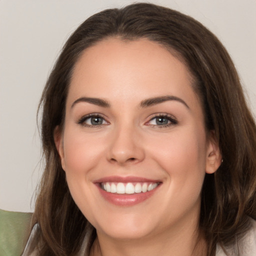
[[[166,219],[173,216],[179,218],[200,203],[205,175],[205,140],[196,134],[176,134],[158,140],[157,148],[151,146],[152,158],[168,176],[161,205],[164,205],[166,212],[172,212],[173,215],[167,214]]]

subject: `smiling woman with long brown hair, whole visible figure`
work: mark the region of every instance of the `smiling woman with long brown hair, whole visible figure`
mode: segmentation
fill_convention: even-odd
[[[24,254],[253,254],[255,123],[199,22],[148,3],[89,17],[40,106],[45,170]]]

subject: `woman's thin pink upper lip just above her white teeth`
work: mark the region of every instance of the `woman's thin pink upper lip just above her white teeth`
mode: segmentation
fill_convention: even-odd
[[[149,179],[145,177],[137,177],[137,176],[107,176],[96,179],[93,181],[94,183],[102,183],[102,182],[161,182],[159,179]]]

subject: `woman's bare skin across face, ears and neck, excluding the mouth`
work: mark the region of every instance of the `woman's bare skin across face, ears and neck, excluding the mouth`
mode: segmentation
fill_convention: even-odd
[[[198,231],[200,191],[205,172],[218,168],[221,155],[214,132],[205,130],[191,83],[181,61],[146,39],[98,42],[76,63],[55,143],[71,195],[97,230],[91,255],[190,256],[198,237],[195,254],[205,255]],[[178,100],[141,107],[141,101],[165,95]],[[110,106],[77,102],[81,97]],[[79,123],[91,113],[103,117],[101,125],[89,117]],[[159,114],[171,117],[167,125],[156,123]],[[138,204],[114,205],[94,184],[111,175],[161,185]]]

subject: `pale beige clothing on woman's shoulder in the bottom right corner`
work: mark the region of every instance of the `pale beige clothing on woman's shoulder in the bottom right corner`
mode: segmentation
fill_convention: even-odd
[[[228,256],[256,255],[256,221],[251,219],[251,226],[248,231],[234,244],[225,247]],[[223,249],[217,244],[216,256],[226,256]]]

